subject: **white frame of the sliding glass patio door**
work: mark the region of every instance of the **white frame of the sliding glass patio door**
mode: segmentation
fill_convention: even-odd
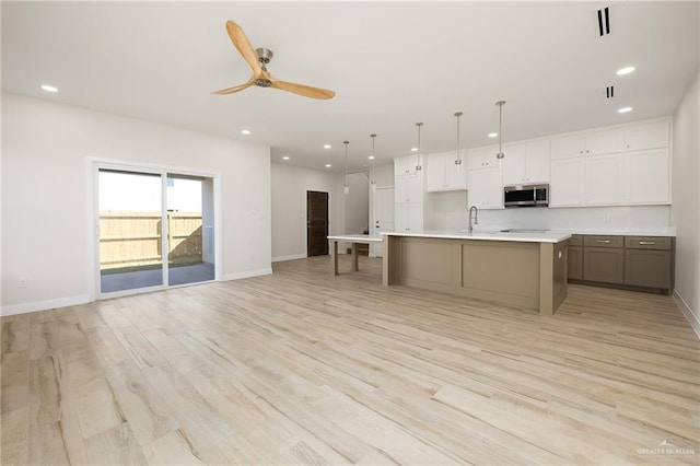
[[[166,194],[167,194],[167,175],[186,175],[197,176],[203,178],[211,178],[213,183],[213,203],[214,203],[214,281],[219,281],[222,270],[222,235],[221,235],[221,173],[220,172],[207,172],[191,167],[183,166],[167,166],[161,164],[149,164],[131,161],[122,161],[115,159],[102,159],[102,158],[86,158],[86,176],[88,176],[88,190],[85,196],[85,209],[89,232],[88,236],[92,241],[88,241],[88,270],[92,270],[92,273],[88,275],[88,290],[90,301],[126,296],[131,294],[139,294],[149,291],[164,290],[168,288],[188,287],[196,283],[185,283],[179,286],[168,286],[167,283],[167,244],[166,236],[161,242],[161,252],[163,259],[163,283],[156,287],[137,288],[133,290],[115,291],[112,293],[103,293],[101,291],[101,275],[100,275],[100,203],[97,202],[100,184],[98,173],[100,170],[114,170],[122,172],[143,173],[150,175],[161,176],[161,215],[162,224],[167,224],[167,209],[165,208]],[[166,235],[167,232],[163,231]]]

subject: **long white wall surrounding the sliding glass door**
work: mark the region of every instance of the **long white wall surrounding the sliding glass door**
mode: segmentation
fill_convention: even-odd
[[[94,296],[92,158],[219,174],[220,278],[271,271],[269,147],[3,93],[3,315]]]

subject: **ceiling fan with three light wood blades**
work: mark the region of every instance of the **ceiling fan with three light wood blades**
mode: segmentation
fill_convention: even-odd
[[[213,92],[213,94],[233,94],[234,92],[243,91],[252,85],[257,85],[260,88],[280,89],[282,91],[292,92],[294,94],[312,98],[332,98],[336,95],[335,92],[327,89],[312,88],[310,85],[295,84],[293,82],[279,80],[266,68],[267,63],[269,63],[272,58],[271,50],[268,50],[267,48],[254,49],[241,26],[233,21],[226,21],[226,32],[229,33],[233,45],[238,49],[250,68],[253,68],[253,75],[243,84],[222,89]]]

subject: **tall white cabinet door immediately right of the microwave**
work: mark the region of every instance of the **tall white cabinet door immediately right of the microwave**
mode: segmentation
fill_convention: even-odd
[[[583,158],[551,161],[549,180],[550,207],[583,206],[585,188],[585,165]]]

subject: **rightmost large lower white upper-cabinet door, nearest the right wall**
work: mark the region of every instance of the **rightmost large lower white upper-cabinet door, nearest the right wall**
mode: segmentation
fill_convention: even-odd
[[[668,149],[628,154],[629,203],[670,202]]]

